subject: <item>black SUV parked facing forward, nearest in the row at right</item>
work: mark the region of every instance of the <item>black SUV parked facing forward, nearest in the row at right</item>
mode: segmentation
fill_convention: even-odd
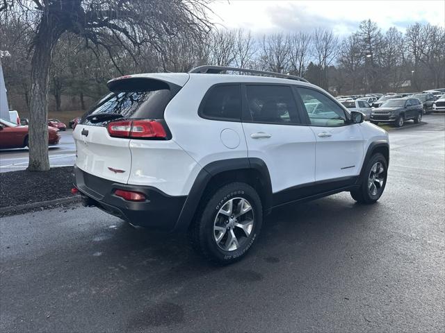
[[[371,111],[371,123],[394,123],[402,127],[406,120],[420,123],[422,120],[423,105],[419,99],[389,99],[380,108]]]

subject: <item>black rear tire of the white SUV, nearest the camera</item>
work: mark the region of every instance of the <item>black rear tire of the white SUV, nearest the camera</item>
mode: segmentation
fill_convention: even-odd
[[[236,208],[231,210],[231,212],[234,212],[235,217],[236,214],[241,214],[241,211],[237,211],[238,209],[243,209],[243,207],[240,208],[241,200],[247,200],[248,203],[248,205],[243,207],[246,207],[246,209],[251,207],[251,210],[248,210],[242,215],[245,216],[245,221],[248,221],[248,219],[252,219],[253,221],[248,236],[248,232],[233,225],[234,221],[238,220],[234,220],[229,216],[225,217],[226,212],[224,212],[224,214],[221,213],[221,210],[227,210],[227,208],[223,208],[229,207],[227,205],[229,205],[229,201],[232,201],[232,205],[236,205]],[[245,204],[241,203],[241,205]],[[240,217],[238,217],[238,219],[240,219]],[[248,253],[255,239],[259,236],[262,221],[263,207],[257,191],[243,182],[232,182],[219,189],[215,189],[204,198],[192,222],[188,236],[193,248],[205,259],[214,264],[232,264]],[[239,222],[242,223],[241,219]],[[216,230],[216,228],[225,229],[226,227],[227,229],[223,231]],[[216,238],[220,237],[220,234],[223,234],[223,236],[221,236],[220,241],[217,243]],[[232,234],[236,235],[237,248],[236,244],[232,242]],[[232,250],[223,249],[232,247],[230,246],[231,244],[234,246]]]

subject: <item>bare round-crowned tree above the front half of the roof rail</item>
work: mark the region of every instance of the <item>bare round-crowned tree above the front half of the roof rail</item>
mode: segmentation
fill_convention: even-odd
[[[261,40],[261,63],[268,71],[284,73],[289,71],[290,40],[288,35],[273,33]]]

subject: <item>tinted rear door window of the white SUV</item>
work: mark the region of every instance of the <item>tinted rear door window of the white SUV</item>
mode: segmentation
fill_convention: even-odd
[[[264,123],[300,123],[291,87],[246,85],[247,104],[244,121]]]

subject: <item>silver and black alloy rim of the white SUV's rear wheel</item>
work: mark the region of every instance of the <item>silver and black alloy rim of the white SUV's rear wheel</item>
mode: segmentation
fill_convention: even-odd
[[[232,198],[221,206],[213,223],[213,238],[220,249],[234,251],[245,244],[254,227],[253,213],[245,198]]]

